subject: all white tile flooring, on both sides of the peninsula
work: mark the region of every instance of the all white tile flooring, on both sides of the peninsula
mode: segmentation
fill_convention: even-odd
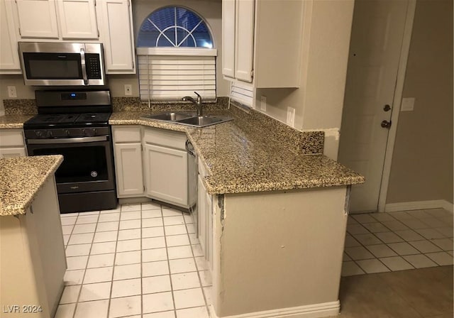
[[[160,204],[62,214],[65,290],[55,318],[206,318],[211,277],[192,217]],[[343,276],[453,264],[443,209],[352,214]]]

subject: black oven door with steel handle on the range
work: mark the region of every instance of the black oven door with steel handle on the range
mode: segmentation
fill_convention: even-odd
[[[114,164],[108,136],[28,139],[28,155],[63,155],[55,172],[62,193],[114,190]]]

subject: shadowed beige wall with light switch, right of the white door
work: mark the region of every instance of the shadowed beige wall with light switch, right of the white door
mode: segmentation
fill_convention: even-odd
[[[387,203],[453,202],[453,1],[418,0]]]

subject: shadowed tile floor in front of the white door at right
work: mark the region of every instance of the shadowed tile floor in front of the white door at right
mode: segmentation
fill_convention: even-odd
[[[342,275],[453,265],[453,214],[444,209],[350,214]]]

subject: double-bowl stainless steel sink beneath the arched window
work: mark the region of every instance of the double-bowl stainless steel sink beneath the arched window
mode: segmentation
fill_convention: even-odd
[[[167,111],[165,113],[144,115],[144,119],[154,119],[157,121],[170,121],[172,124],[182,124],[194,127],[206,127],[232,121],[233,118],[227,116],[194,116],[194,114]]]

